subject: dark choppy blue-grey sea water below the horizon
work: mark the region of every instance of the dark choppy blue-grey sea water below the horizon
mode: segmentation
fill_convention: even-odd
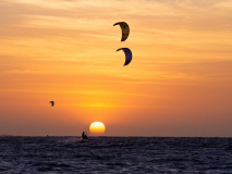
[[[232,138],[0,137],[0,173],[232,174]]]

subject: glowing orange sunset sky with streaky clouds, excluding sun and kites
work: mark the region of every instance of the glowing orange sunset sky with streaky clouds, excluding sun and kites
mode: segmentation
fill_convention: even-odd
[[[0,135],[231,137],[232,1],[0,0]]]

